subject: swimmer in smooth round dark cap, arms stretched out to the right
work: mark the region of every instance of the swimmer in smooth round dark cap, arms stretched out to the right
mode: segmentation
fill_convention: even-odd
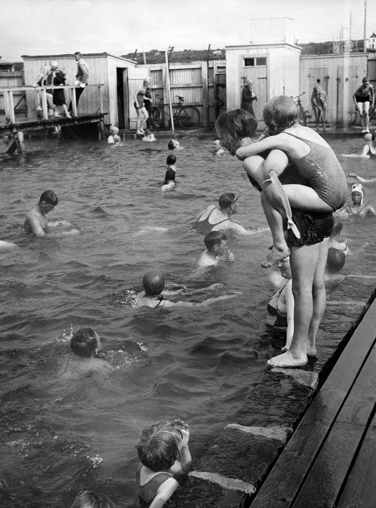
[[[191,303],[191,302],[171,302],[170,300],[165,300],[164,296],[168,294],[168,296],[172,296],[173,294],[178,294],[178,292],[164,292],[164,276],[162,272],[159,270],[149,270],[143,276],[142,279],[143,289],[144,291],[136,296],[136,307],[204,307],[211,303],[220,301],[220,300],[228,300],[229,298],[234,298],[237,296],[237,293],[233,295],[222,295],[214,298],[208,298],[201,303]],[[211,289],[217,289],[218,284],[212,284],[209,288],[205,290],[188,290],[188,292],[193,294],[203,293],[204,291],[208,291]],[[163,293],[162,293],[163,292]],[[181,291],[182,292],[182,291]]]

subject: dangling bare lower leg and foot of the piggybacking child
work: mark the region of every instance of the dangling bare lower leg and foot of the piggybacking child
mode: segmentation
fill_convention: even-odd
[[[261,204],[263,205],[264,213],[273,237],[273,248],[261,263],[263,268],[268,268],[281,259],[290,256],[291,250],[287,246],[284,238],[282,215],[271,205],[265,192],[261,193]]]

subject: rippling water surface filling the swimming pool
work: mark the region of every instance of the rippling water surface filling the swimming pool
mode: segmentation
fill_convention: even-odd
[[[330,143],[337,154],[362,146]],[[266,227],[259,195],[237,160],[211,155],[210,140],[181,144],[178,186],[165,194],[164,140],[114,149],[33,140],[24,160],[0,160],[0,239],[17,244],[0,252],[4,507],[69,506],[81,487],[130,506],[140,430],[180,417],[190,424],[198,456],[275,353],[263,323],[272,290],[259,268],[269,232],[228,234],[235,262],[192,276],[205,249],[191,231],[193,217],[231,191],[241,196],[236,220]],[[340,161],[346,172],[374,176],[373,161]],[[69,220],[78,235],[24,235],[25,213],[48,188],[59,197],[49,220]],[[372,205],[375,188],[367,194]],[[374,220],[343,222],[355,252],[374,238]],[[346,268],[359,256],[349,256]],[[149,268],[162,269],[171,285],[224,285],[193,301],[243,294],[207,308],[134,309],[132,295]],[[82,327],[99,333],[105,359],[83,361],[70,352],[72,333]]]

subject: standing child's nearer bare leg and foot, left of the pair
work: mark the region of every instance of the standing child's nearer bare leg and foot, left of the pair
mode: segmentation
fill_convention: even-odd
[[[294,335],[290,350],[268,360],[272,367],[302,367],[307,363],[308,332],[313,315],[312,287],[320,243],[293,247],[290,266],[293,275]]]

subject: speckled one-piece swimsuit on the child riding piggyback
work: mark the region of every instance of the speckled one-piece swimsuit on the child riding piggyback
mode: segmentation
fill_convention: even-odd
[[[348,184],[346,176],[333,150],[319,145],[314,141],[285,132],[289,136],[300,139],[309,146],[309,153],[300,158],[289,155],[289,159],[297,168],[298,174],[306,181],[308,187],[333,208],[341,208],[346,202]]]

